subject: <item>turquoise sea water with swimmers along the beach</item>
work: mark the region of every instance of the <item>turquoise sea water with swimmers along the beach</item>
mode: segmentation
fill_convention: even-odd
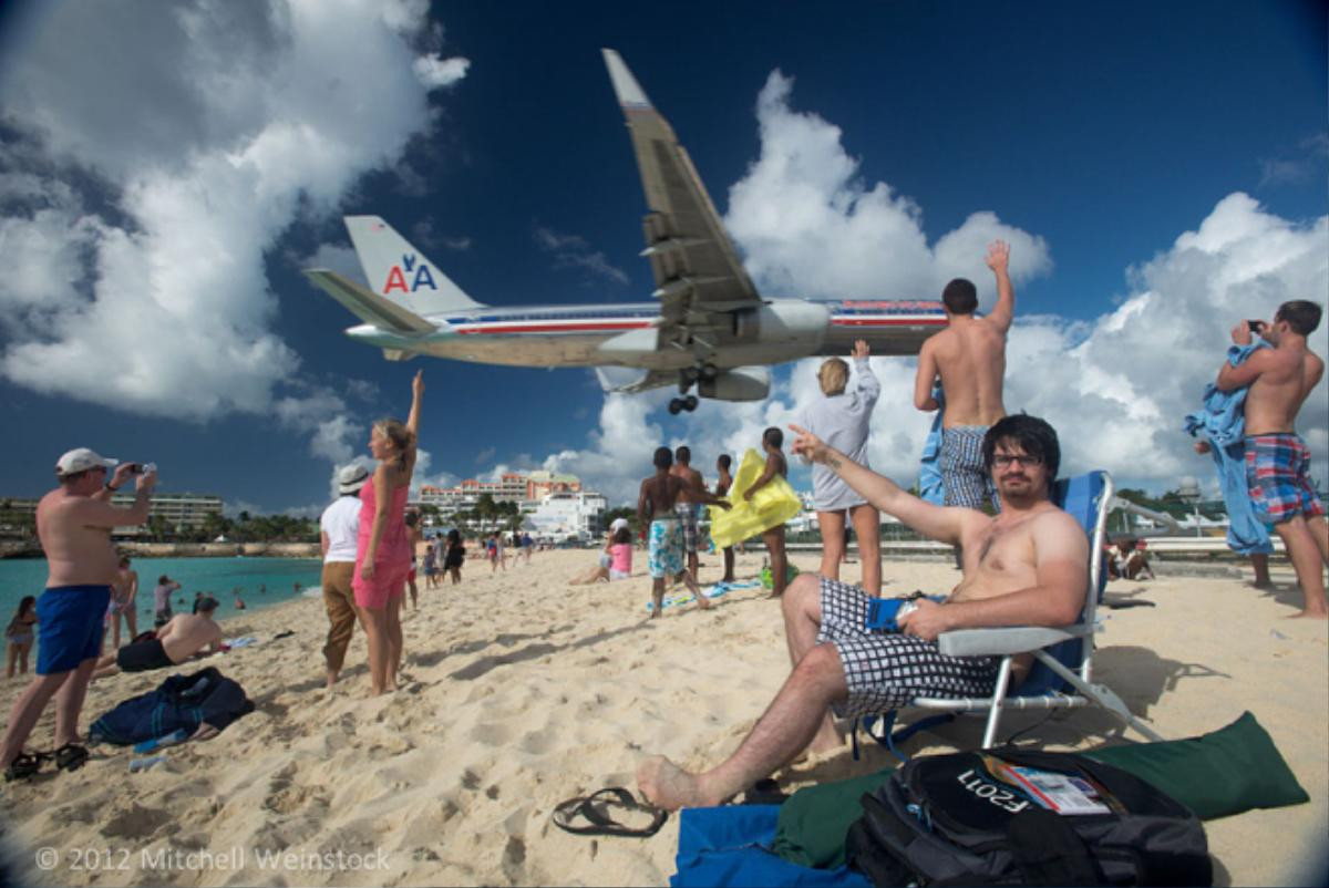
[[[221,602],[217,618],[225,619],[310,592],[319,594],[323,564],[318,558],[134,558],[133,568],[138,570],[138,631],[144,631],[153,627],[153,589],[162,574],[181,584],[179,592],[171,596],[175,613],[189,613],[194,593],[202,590]],[[296,582],[299,593],[294,589]],[[0,561],[0,629],[9,625],[24,596],[40,596],[45,585],[44,558]],[[267,590],[260,593],[260,586]],[[237,588],[245,600],[243,611],[234,605]]]

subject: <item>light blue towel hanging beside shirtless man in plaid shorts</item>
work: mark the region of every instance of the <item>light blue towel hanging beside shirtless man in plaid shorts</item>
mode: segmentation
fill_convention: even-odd
[[[1236,367],[1257,348],[1269,348],[1259,336],[1249,346],[1228,348],[1228,363]],[[1272,554],[1269,530],[1256,520],[1251,506],[1251,492],[1245,480],[1245,396],[1247,388],[1220,392],[1209,383],[1204,387],[1204,408],[1187,413],[1183,428],[1192,437],[1200,432],[1209,441],[1223,488],[1223,502],[1228,509],[1228,548],[1237,554]]]

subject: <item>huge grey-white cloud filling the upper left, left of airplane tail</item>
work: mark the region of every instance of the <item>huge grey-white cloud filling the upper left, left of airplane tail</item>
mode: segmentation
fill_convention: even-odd
[[[287,384],[264,254],[433,126],[429,90],[466,68],[440,44],[420,0],[52,7],[0,81],[21,136],[0,374],[145,415],[274,413],[338,457],[344,404]]]

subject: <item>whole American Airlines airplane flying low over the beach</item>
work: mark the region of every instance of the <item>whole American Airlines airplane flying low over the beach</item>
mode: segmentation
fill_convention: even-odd
[[[670,413],[698,396],[763,400],[768,366],[845,355],[917,355],[941,330],[936,300],[767,298],[758,292],[687,152],[627,65],[603,49],[627,118],[650,211],[642,255],[655,300],[634,304],[494,307],[474,302],[392,226],[344,217],[372,290],[327,269],[304,274],[364,323],[346,335],[389,360],[431,355],[520,367],[594,367],[605,391],[676,384]],[[696,395],[690,389],[696,387]]]

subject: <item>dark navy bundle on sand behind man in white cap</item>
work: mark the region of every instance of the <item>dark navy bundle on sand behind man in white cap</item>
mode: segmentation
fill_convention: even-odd
[[[125,701],[93,722],[88,738],[129,746],[177,728],[193,734],[203,722],[221,731],[253,711],[245,689],[209,666],[193,675],[171,675],[157,690]]]

